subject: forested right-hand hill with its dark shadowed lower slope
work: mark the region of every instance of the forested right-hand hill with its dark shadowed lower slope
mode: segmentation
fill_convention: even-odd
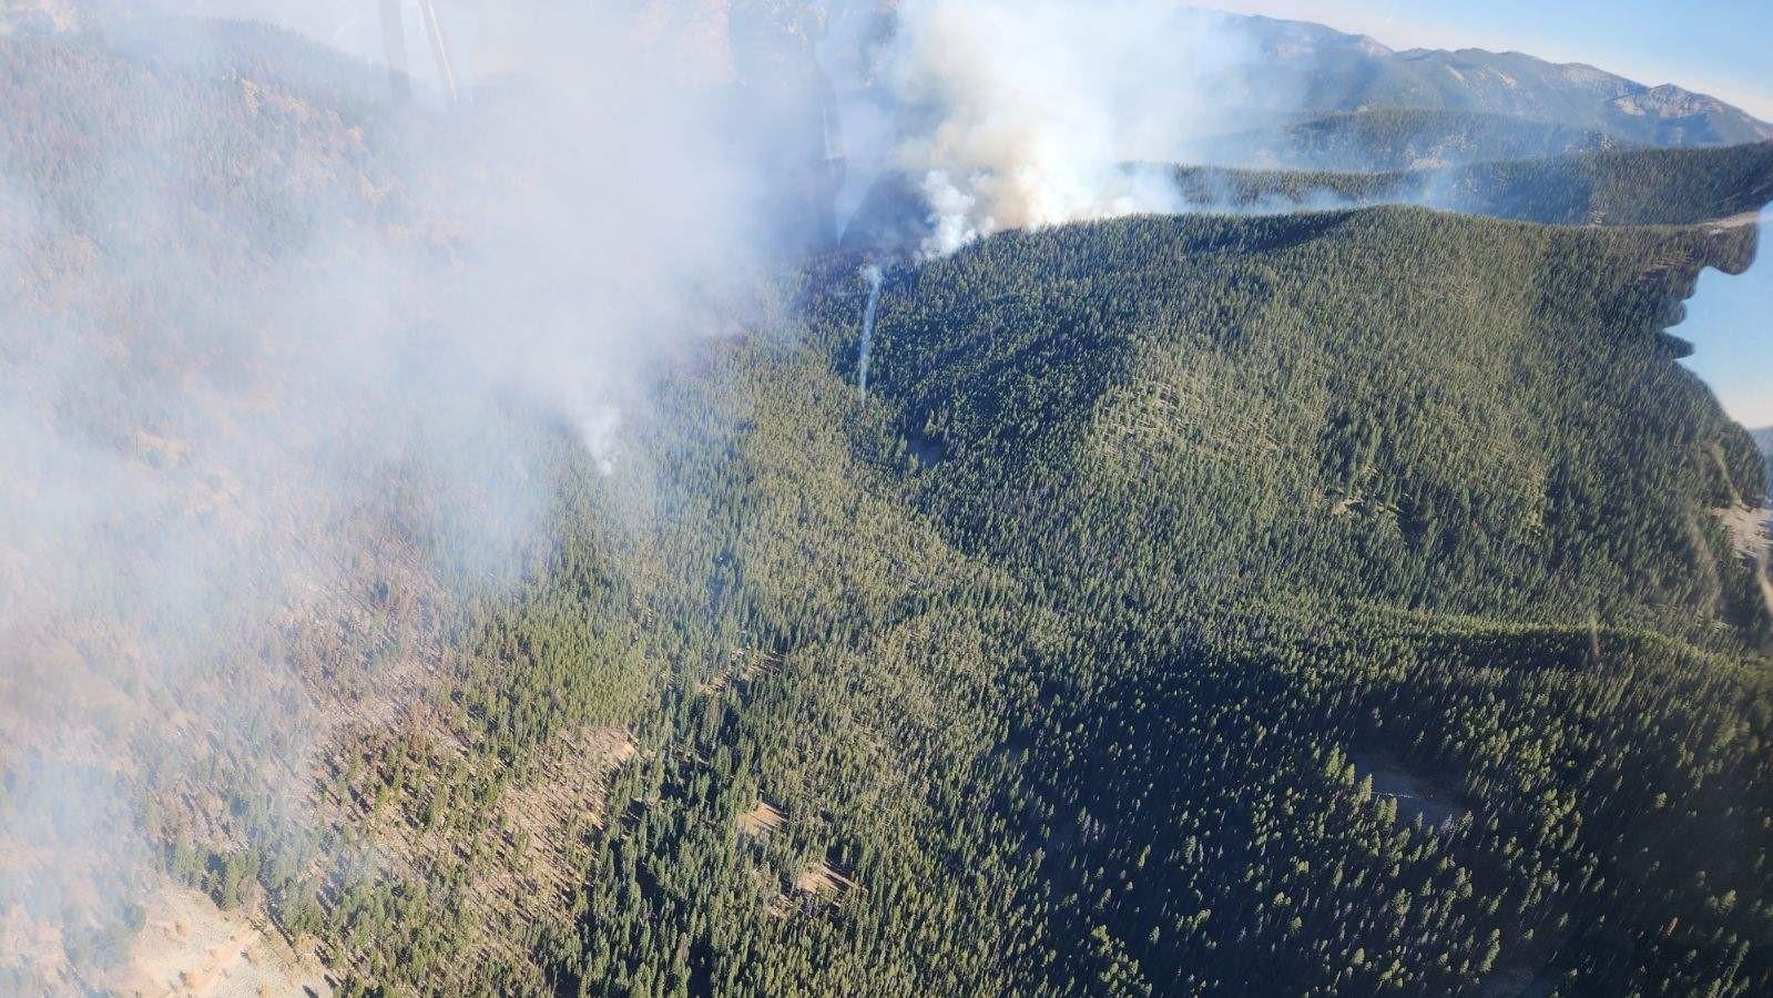
[[[1709,938],[1684,932],[1713,902],[1675,901],[1699,870],[1667,867],[1700,835],[1713,876],[1766,890],[1734,860],[1755,823],[1718,821],[1755,799],[1753,748],[1718,782],[1633,789],[1667,734],[1727,730],[1768,695],[1736,643],[1768,640],[1766,612],[1709,516],[1720,489],[1764,495],[1766,477],[1658,339],[1668,294],[1716,252],[1706,232],[1411,211],[1136,220],[1002,236],[888,282],[876,399],[908,454],[941,456],[904,457],[922,503],[1092,635],[1037,667],[1043,706],[1018,716],[1043,734],[1012,737],[1051,814],[1078,814],[1050,872],[1101,895],[1078,927],[1105,929],[1156,991],[1684,991],[1768,973],[1734,963],[1738,943],[1683,955],[1674,938]],[[1688,626],[1695,612],[1739,638],[1702,651],[1716,631]],[[1557,748],[1519,769],[1528,743]],[[1307,791],[1303,759],[1349,803]],[[1436,784],[1410,792],[1454,815],[1440,831],[1429,817],[1372,853],[1332,844],[1386,838],[1408,814],[1397,787]],[[1690,803],[1645,817],[1656,794]],[[1356,831],[1363,807],[1383,817]],[[1504,858],[1511,835],[1535,844]],[[1346,865],[1381,854],[1422,879]],[[1601,877],[1608,901],[1589,893]],[[1394,915],[1333,901],[1349,881]],[[1496,893],[1530,881],[1558,886]],[[1459,915],[1466,885],[1514,915]],[[1429,929],[1452,924],[1477,931]],[[1417,931],[1436,941],[1381,941]],[[1748,922],[1723,932],[1759,952]],[[1356,948],[1408,955],[1346,963]]]

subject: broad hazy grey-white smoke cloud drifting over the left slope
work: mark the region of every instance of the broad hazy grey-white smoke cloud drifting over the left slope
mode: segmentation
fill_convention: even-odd
[[[346,7],[142,11],[326,41],[376,5]],[[261,35],[87,27],[21,44],[158,69],[62,80],[112,131],[0,156],[0,934],[51,925],[76,968],[154,876],[144,787],[220,773],[303,821],[312,752],[351,714],[293,642],[335,631],[317,658],[371,688],[390,656],[434,665],[367,622],[509,581],[562,438],[612,482],[647,473],[624,441],[670,418],[649,386],[759,310],[750,277],[782,250],[762,152],[798,138],[660,57],[706,39],[628,18],[502,37],[500,69],[527,71],[459,106],[401,106],[381,67],[294,46],[378,101],[346,112],[277,58],[234,64]],[[239,122],[271,149],[218,154]],[[37,948],[14,955],[53,966]]]

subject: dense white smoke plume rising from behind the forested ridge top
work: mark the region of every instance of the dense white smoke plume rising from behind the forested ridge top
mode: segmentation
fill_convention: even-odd
[[[1248,51],[1222,16],[1165,0],[911,0],[892,57],[906,113],[894,167],[931,206],[924,253],[1179,211],[1163,165],[1222,128],[1211,80]]]

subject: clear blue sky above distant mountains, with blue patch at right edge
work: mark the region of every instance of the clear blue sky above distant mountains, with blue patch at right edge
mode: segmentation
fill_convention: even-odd
[[[1677,83],[1773,121],[1773,2],[1768,0],[1204,0],[1319,21],[1392,48],[1514,50],[1587,62],[1642,83]],[[1773,218],[1773,216],[1769,216]],[[1706,271],[1677,335],[1723,408],[1773,427],[1773,229],[1743,277]]]

